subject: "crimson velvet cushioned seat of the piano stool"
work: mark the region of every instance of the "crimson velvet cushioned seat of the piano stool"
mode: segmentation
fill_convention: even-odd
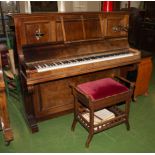
[[[128,88],[112,78],[79,84],[78,89],[91,97],[93,101],[128,91]]]

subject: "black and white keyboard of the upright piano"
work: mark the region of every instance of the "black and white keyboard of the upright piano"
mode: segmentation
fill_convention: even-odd
[[[91,64],[95,62],[102,62],[107,60],[119,59],[124,57],[133,56],[134,54],[126,51],[126,52],[118,52],[111,54],[98,54],[98,55],[90,55],[84,57],[78,57],[73,59],[62,60],[59,62],[53,63],[45,63],[45,64],[37,64],[34,67],[37,69],[37,72],[45,72],[49,70],[62,69],[67,67],[79,66],[84,64]]]

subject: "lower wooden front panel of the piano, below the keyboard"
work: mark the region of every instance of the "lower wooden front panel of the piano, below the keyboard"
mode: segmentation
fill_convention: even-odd
[[[112,74],[118,75],[119,68],[100,71],[76,77],[64,78],[35,86],[34,104],[38,120],[52,117],[62,111],[73,109],[73,96],[70,84],[79,84],[87,81],[101,79]]]

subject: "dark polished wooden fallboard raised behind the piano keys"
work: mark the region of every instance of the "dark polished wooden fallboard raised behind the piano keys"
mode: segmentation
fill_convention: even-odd
[[[59,61],[73,57],[110,52],[128,48],[127,38],[115,40],[95,40],[73,43],[40,43],[23,46],[24,62]]]

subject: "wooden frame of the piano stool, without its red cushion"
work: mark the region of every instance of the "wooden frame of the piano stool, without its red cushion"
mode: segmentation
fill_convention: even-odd
[[[121,83],[123,82],[125,84],[128,84],[128,91],[95,101],[92,101],[92,99],[88,95],[81,92],[76,86],[72,86],[74,95],[74,119],[71,130],[74,131],[77,122],[79,122],[89,132],[85,144],[86,147],[89,147],[92,137],[96,133],[99,133],[121,123],[126,124],[127,130],[130,129],[129,110],[134,84],[122,77],[117,76],[115,78]],[[121,102],[125,102],[124,110],[121,110],[117,107],[117,104]],[[107,108],[108,110],[113,112],[115,114],[115,118],[94,125],[94,112],[103,108]],[[88,110],[90,112],[89,122],[82,116],[82,114]]]

